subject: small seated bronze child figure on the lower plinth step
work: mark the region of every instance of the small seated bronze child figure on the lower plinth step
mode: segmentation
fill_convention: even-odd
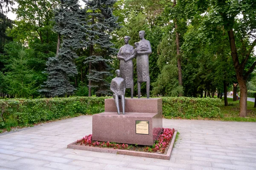
[[[120,115],[119,109],[119,97],[122,102],[122,112],[125,114],[125,79],[120,77],[120,70],[115,71],[116,77],[112,79],[110,84],[110,90],[113,92],[113,98],[115,100],[117,113]]]

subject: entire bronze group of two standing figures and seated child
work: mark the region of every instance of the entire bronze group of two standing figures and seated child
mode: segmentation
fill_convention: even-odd
[[[152,53],[151,44],[145,40],[145,31],[139,32],[140,42],[129,45],[131,37],[125,36],[125,45],[119,49],[117,58],[120,60],[119,70],[116,70],[116,78],[111,81],[110,89],[113,92],[113,98],[116,104],[117,113],[119,111],[119,97],[122,99],[122,112],[125,114],[125,89],[131,89],[131,98],[133,98],[134,81],[133,81],[133,62],[132,59],[136,57],[137,60],[137,84],[138,84],[138,98],[140,98],[141,83],[146,82],[147,98],[149,98],[149,62],[148,55]]]

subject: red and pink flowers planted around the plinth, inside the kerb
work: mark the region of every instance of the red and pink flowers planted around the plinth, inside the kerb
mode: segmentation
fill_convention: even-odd
[[[163,128],[163,132],[157,138],[157,141],[152,146],[143,146],[137,144],[118,144],[114,142],[93,141],[92,134],[86,135],[80,140],[77,140],[76,145],[84,145],[90,147],[109,147],[119,150],[134,150],[140,152],[165,153],[170,142],[172,141],[175,129]]]

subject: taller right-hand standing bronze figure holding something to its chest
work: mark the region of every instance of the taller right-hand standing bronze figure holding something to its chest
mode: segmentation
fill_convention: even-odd
[[[149,61],[148,55],[152,53],[151,44],[145,40],[145,31],[139,32],[140,42],[135,43],[134,52],[137,58],[137,84],[138,98],[140,98],[141,83],[146,82],[147,98],[149,98],[150,78],[149,78]]]

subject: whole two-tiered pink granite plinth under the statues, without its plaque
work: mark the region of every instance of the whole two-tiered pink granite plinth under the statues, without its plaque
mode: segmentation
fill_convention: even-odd
[[[136,121],[149,122],[148,135],[136,133]],[[162,129],[161,98],[127,98],[125,115],[117,114],[113,99],[105,99],[105,112],[93,115],[94,141],[153,145]]]

